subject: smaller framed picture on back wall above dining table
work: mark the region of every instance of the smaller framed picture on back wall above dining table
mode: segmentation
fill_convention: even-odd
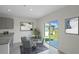
[[[31,22],[20,22],[20,30],[21,31],[31,31],[32,23]]]

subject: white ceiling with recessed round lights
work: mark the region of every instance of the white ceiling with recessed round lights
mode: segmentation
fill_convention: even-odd
[[[40,18],[54,12],[64,5],[0,5],[0,16]]]

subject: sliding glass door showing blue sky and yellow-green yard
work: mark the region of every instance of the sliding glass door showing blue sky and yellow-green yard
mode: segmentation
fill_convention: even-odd
[[[58,48],[59,46],[59,22],[57,20],[50,21],[45,24],[45,41],[49,45]]]

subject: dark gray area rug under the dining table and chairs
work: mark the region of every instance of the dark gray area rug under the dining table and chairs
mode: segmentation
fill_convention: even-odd
[[[37,53],[43,52],[43,51],[45,51],[47,49],[48,48],[45,47],[44,45],[37,44],[37,47],[35,49],[32,49],[31,53],[29,53],[29,54],[37,54]],[[21,54],[28,54],[28,53],[26,53],[26,51],[23,51],[22,46],[20,46],[20,52],[21,52]]]

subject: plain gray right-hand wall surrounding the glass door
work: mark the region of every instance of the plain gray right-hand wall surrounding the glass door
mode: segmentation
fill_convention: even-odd
[[[44,24],[51,20],[59,20],[59,50],[64,53],[79,53],[79,35],[66,34],[64,27],[64,19],[79,16],[79,6],[66,6],[55,11],[38,21],[38,29],[41,36],[44,37]]]

